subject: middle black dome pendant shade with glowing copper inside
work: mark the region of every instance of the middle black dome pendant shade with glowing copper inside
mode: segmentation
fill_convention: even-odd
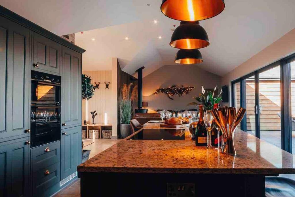
[[[181,21],[171,36],[170,45],[181,49],[204,48],[209,45],[209,39],[199,21]]]

